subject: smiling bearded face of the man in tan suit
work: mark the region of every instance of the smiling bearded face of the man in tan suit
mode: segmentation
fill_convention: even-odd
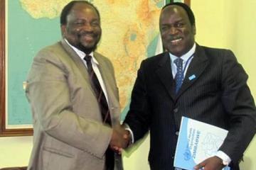
[[[63,38],[86,54],[94,51],[100,41],[102,30],[100,16],[88,4],[76,3],[61,26]]]

